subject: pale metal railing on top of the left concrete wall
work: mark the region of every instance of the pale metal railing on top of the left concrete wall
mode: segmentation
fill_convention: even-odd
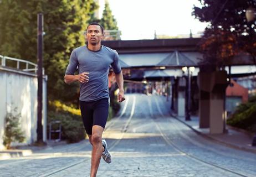
[[[7,66],[6,64],[6,61],[7,60],[11,60],[11,61],[16,61],[17,62],[17,67],[16,69],[18,70],[22,70],[22,71],[34,71],[35,73],[37,73],[37,70],[38,70],[38,65],[37,64],[34,64],[30,61],[27,61],[27,60],[22,60],[22,59],[16,59],[16,58],[11,58],[9,56],[3,56],[3,55],[0,55],[0,59],[2,60],[1,61],[1,65],[2,66]],[[20,64],[21,63],[24,63],[25,64],[25,69],[21,69],[20,67]],[[31,67],[32,66],[32,67]],[[9,66],[10,67],[10,66]],[[11,66],[12,67],[12,66]],[[44,68],[43,68],[43,75],[44,75]]]

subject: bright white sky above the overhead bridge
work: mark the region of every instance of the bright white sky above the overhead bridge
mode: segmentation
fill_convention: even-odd
[[[104,9],[100,0],[99,12]],[[121,30],[122,40],[153,39],[158,35],[177,36],[202,32],[207,26],[192,17],[198,0],[108,0]]]

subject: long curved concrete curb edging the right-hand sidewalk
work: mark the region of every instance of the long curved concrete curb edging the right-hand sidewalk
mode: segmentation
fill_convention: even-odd
[[[217,142],[217,143],[222,144],[222,145],[226,145],[227,147],[230,147],[230,148],[234,148],[234,149],[238,149],[238,150],[244,150],[246,152],[251,152],[251,153],[256,153],[256,149],[250,149],[250,148],[241,147],[239,145],[234,145],[234,144],[231,144],[231,143],[228,143],[228,142],[225,142],[225,141],[213,138],[211,136],[208,136],[207,134],[199,132],[197,129],[195,129],[192,126],[190,126],[190,124],[187,124],[185,121],[182,121],[181,119],[177,118],[173,114],[170,113],[170,115],[171,115],[171,117],[173,117],[173,118],[177,119],[178,121],[180,121],[181,123],[185,124],[187,127],[191,128],[194,132],[196,132],[197,134],[199,134],[200,136],[202,136],[202,137],[204,137],[206,139],[212,140],[212,141]]]

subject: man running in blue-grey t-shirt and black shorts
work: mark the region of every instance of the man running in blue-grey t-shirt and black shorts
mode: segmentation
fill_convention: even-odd
[[[86,29],[88,45],[80,46],[72,51],[69,65],[66,68],[65,83],[80,82],[80,110],[85,131],[93,146],[91,152],[90,177],[97,174],[102,157],[106,163],[111,163],[112,157],[107,150],[107,143],[102,134],[109,114],[109,67],[115,72],[119,87],[117,101],[124,97],[124,78],[119,65],[119,55],[115,50],[101,45],[104,29],[98,23],[91,23]],[[78,67],[79,74],[74,75]]]

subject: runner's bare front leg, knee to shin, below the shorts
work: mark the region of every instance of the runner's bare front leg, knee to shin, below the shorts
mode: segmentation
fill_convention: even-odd
[[[99,168],[100,158],[104,151],[102,145],[102,134],[103,127],[93,126],[93,134],[89,136],[89,141],[93,145],[93,150],[91,151],[91,174],[90,177],[95,177]]]

